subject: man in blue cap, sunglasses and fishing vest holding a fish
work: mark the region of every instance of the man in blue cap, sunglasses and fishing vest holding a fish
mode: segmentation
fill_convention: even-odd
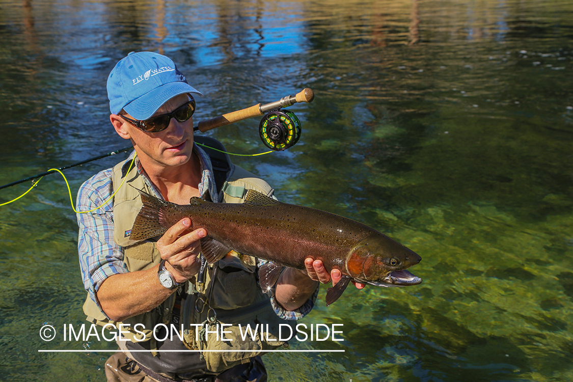
[[[280,345],[278,324],[307,314],[316,299],[318,281],[329,282],[331,277],[338,281],[340,272],[329,274],[320,261],[307,259],[306,272],[286,268],[267,295],[257,285],[259,264],[233,251],[199,275],[201,239],[208,232],[190,231],[189,218],[152,241],[132,241],[129,230],[142,206],[138,190],[189,204],[193,196],[237,203],[247,189],[268,196],[273,189],[233,166],[228,156],[223,160],[228,162],[224,163],[225,187],[218,187],[212,158],[194,143],[193,96],[202,94],[187,83],[170,58],[129,53],[109,74],[107,89],[113,128],[131,140],[136,157],[132,153],[125,162],[87,180],[77,204],[79,211],[88,211],[78,214],[80,265],[88,292],[84,312],[89,321],[100,325],[131,325],[117,341],[123,352],[107,361],[108,380],[266,380],[258,353]],[[270,323],[265,333],[270,341],[258,338],[238,353],[183,352],[231,349],[241,339],[232,330],[235,326],[227,338],[212,331],[207,338],[205,329],[213,330],[208,318],[213,325]],[[183,340],[166,332],[168,324],[181,323],[185,324]],[[141,350],[148,352],[135,352]]]

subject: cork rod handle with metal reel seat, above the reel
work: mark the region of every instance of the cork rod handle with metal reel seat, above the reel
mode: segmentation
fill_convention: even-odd
[[[218,117],[214,117],[205,121],[199,121],[195,130],[199,130],[202,133],[214,129],[215,127],[221,127],[228,125],[233,122],[242,121],[250,117],[261,116],[265,112],[272,109],[278,109],[281,107],[291,106],[297,102],[310,103],[315,99],[315,93],[311,88],[305,88],[301,92],[295,94],[294,96],[286,96],[281,98],[279,101],[275,101],[269,104],[256,104],[252,107],[237,110],[234,112],[226,113]]]

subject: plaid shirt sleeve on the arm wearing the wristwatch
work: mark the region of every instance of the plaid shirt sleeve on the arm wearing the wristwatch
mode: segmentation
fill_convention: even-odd
[[[112,195],[112,188],[111,169],[101,171],[82,184],[76,202],[76,210],[80,211],[78,253],[84,288],[104,314],[97,301],[97,290],[112,274],[128,273],[123,249],[113,241],[113,199],[104,203]],[[96,207],[99,208],[91,211]]]

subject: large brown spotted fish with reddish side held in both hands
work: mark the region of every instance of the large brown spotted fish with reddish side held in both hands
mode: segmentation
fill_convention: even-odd
[[[163,235],[179,220],[189,217],[190,229],[203,228],[202,253],[214,263],[231,249],[270,260],[260,267],[261,288],[269,290],[281,266],[304,270],[304,259],[321,260],[325,269],[339,269],[342,279],[327,290],[327,305],[335,302],[348,282],[375,286],[417,285],[422,279],[406,268],[421,257],[386,235],[329,212],[278,202],[249,190],[245,202],[211,203],[191,198],[190,204],[166,202],[143,191],[143,207],[130,238],[144,240]]]

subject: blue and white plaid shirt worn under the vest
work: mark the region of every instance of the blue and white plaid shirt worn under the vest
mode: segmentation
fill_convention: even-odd
[[[209,191],[211,200],[218,203],[219,197],[215,188],[211,159],[198,145],[194,145],[193,150],[201,160],[202,179],[198,187],[199,194],[202,198],[205,198],[207,191]],[[132,152],[128,160],[125,161],[125,170],[127,170],[127,166],[131,164],[134,155],[135,152]],[[139,174],[150,187],[154,196],[163,199],[163,196],[148,178],[138,159],[135,160],[135,163]],[[101,206],[112,194],[112,168],[108,168],[107,170],[98,172],[81,185],[77,194],[77,210],[89,211],[97,206]],[[87,290],[88,296],[96,302],[102,313],[105,314],[103,309],[101,309],[99,301],[97,301],[97,290],[109,276],[118,273],[128,273],[127,266],[124,262],[123,247],[116,245],[113,241],[113,199],[109,200],[109,202],[105,203],[96,211],[77,214],[77,222],[80,227],[78,252],[81,273],[84,279],[84,288]],[[259,265],[265,262],[268,261],[260,260]],[[277,304],[274,300],[274,290],[269,293],[273,296],[271,297],[271,304],[277,316],[285,320],[299,320],[312,310],[318,295],[318,290],[317,288],[313,296],[309,298],[303,306],[293,312],[289,312]]]

